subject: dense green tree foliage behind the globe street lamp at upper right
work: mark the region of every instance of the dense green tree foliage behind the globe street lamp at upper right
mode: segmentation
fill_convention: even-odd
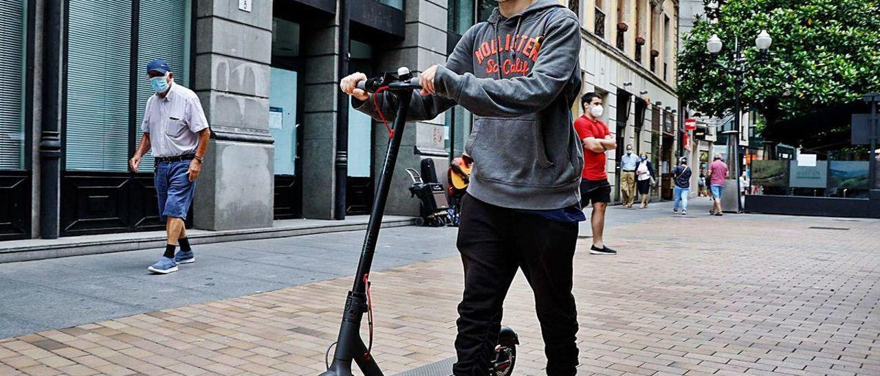
[[[696,111],[721,117],[733,108],[737,36],[744,53],[742,108],[760,112],[766,127],[880,90],[880,0],[704,4],[717,19],[697,18],[678,54],[678,94]],[[764,60],[754,41],[761,30],[773,37]],[[712,34],[724,43],[718,56],[706,48]]]

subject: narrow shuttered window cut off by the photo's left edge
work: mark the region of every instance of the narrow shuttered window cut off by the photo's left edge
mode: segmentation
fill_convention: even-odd
[[[0,6],[0,170],[25,168],[26,1]]]

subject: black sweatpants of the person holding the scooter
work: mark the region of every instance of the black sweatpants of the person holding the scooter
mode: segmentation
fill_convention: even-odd
[[[458,304],[455,376],[486,376],[502,323],[502,303],[522,269],[535,295],[547,375],[576,374],[577,312],[571,294],[577,223],[490,205],[471,195],[461,204],[458,251],[465,293]],[[516,329],[517,323],[510,322]]]

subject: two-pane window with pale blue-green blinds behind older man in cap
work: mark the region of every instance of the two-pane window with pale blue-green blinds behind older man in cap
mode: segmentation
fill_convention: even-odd
[[[165,59],[174,81],[188,84],[189,1],[142,0],[138,5],[133,14],[128,2],[70,0],[66,170],[128,170],[143,110],[153,94],[144,72],[148,61]],[[138,33],[133,36],[135,24]],[[90,67],[100,72],[100,79],[75,67]],[[151,168],[147,155],[140,170]]]

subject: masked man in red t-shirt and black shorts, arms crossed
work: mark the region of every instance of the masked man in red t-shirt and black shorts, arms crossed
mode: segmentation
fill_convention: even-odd
[[[605,206],[611,202],[611,184],[605,172],[605,152],[617,148],[617,141],[599,117],[602,116],[602,97],[588,92],[581,97],[583,116],[575,120],[577,136],[583,143],[583,173],[581,174],[581,206],[593,205],[590,224],[593,228],[593,255],[617,255],[617,251],[602,242],[605,229]]]

